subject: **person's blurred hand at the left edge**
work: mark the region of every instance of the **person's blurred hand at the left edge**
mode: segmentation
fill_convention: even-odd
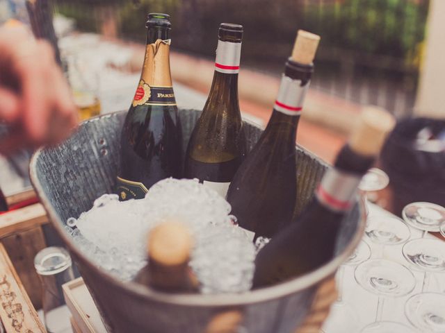
[[[0,121],[12,130],[0,153],[57,144],[77,123],[76,107],[49,43],[25,28],[0,28]]]

